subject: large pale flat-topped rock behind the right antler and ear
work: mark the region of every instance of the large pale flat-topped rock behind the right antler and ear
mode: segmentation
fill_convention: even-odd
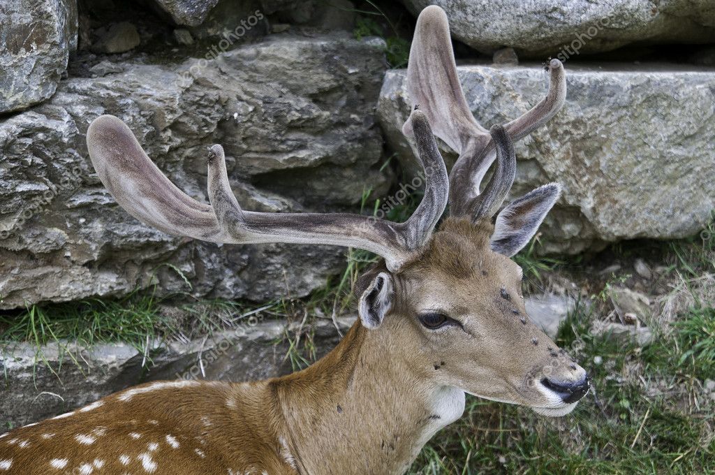
[[[622,69],[621,69],[622,68]],[[512,197],[546,182],[563,186],[541,226],[547,253],[597,250],[638,237],[694,235],[715,208],[715,72],[678,67],[567,67],[566,104],[545,127],[515,144]],[[458,67],[481,124],[503,123],[546,94],[540,67]],[[411,103],[405,71],[388,71],[378,115],[390,147],[415,170],[400,132]],[[442,145],[451,164],[455,155]]]

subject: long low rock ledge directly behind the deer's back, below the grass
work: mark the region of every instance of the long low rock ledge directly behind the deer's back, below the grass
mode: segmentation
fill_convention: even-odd
[[[350,317],[337,319],[342,333],[354,321]],[[295,330],[295,325],[285,320],[247,319],[205,341],[150,343],[147,359],[143,348],[138,351],[125,343],[84,348],[60,341],[43,346],[41,353],[30,343],[6,346],[0,353],[0,373],[4,375],[0,382],[0,434],[8,424],[24,426],[149,381],[205,378],[240,382],[290,373],[285,335]],[[317,320],[314,338],[319,357],[340,341],[330,320]],[[276,341],[282,343],[276,345]]]

